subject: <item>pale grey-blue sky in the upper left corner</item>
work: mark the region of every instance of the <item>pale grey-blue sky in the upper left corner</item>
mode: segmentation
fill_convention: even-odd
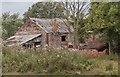
[[[19,13],[19,17],[23,18],[23,14],[36,2],[2,2],[2,13],[10,12],[10,14]]]

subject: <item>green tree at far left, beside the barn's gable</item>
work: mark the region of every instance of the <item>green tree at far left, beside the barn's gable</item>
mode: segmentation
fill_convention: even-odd
[[[2,14],[2,39],[5,40],[12,36],[22,26],[22,19],[18,18],[19,14],[10,15],[9,12]]]

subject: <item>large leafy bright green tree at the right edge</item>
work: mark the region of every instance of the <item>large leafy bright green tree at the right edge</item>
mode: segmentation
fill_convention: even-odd
[[[119,2],[92,3],[88,17],[88,30],[100,33],[103,40],[111,47],[120,48]],[[113,46],[111,46],[113,45]]]

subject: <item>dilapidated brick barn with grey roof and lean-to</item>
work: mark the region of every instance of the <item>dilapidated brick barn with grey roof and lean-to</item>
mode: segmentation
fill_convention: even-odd
[[[34,45],[36,47],[62,47],[73,43],[73,28],[65,19],[29,18],[14,34],[6,40],[7,46]],[[71,34],[69,34],[69,30]]]

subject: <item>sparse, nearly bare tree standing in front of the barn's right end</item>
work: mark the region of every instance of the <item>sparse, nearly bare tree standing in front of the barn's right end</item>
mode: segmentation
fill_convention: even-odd
[[[75,0],[74,0],[75,1]],[[88,15],[90,3],[81,1],[79,2],[63,2],[63,7],[65,9],[65,15],[67,23],[72,25],[74,28],[74,47],[78,44],[80,39],[80,31],[84,26],[84,19]]]

